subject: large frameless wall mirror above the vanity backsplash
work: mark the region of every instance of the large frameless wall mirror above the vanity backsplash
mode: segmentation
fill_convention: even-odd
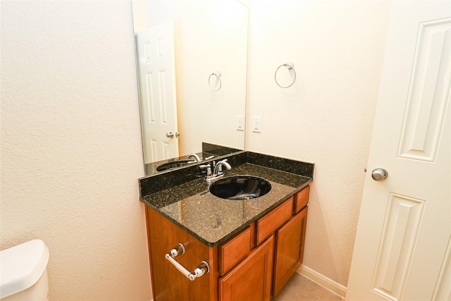
[[[132,0],[146,176],[245,149],[248,8]],[[163,166],[164,165],[164,166]]]

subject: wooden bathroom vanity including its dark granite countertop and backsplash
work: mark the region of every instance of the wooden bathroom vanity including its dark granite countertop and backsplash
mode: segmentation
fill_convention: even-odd
[[[249,152],[228,162],[225,178],[257,176],[271,190],[216,197],[203,178],[189,180],[199,166],[140,179],[154,300],[271,300],[302,263],[313,164]]]

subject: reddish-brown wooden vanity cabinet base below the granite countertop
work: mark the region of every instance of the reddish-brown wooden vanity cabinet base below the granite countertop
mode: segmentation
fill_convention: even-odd
[[[309,186],[251,223],[218,247],[208,247],[146,207],[154,300],[252,301],[276,297],[302,264]],[[179,242],[175,257],[192,271],[202,260],[209,274],[188,280],[164,258]]]

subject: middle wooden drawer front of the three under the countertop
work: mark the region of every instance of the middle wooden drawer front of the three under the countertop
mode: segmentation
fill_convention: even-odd
[[[290,219],[293,197],[257,221],[257,245]]]

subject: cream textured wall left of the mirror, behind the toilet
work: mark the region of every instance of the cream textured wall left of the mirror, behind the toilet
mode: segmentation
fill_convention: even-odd
[[[130,1],[1,1],[1,249],[51,300],[150,300]]]

